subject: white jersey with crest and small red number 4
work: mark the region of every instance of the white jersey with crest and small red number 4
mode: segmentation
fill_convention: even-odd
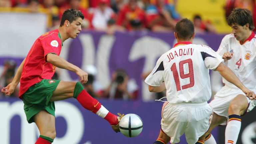
[[[217,51],[221,56],[225,52],[233,53],[225,64],[236,74],[240,81],[249,89],[256,88],[256,36],[251,36],[241,44],[233,34],[226,35]],[[223,83],[231,88],[237,88],[232,83],[222,78]]]

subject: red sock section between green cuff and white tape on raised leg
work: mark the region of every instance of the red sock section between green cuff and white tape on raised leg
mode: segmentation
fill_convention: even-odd
[[[101,103],[89,95],[85,90],[82,90],[76,99],[84,108],[93,113],[96,113],[101,108]]]

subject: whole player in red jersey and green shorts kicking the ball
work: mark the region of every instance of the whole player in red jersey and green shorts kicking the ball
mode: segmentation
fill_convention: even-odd
[[[82,84],[88,74],[79,67],[59,57],[62,43],[68,38],[76,38],[81,31],[84,15],[75,9],[66,10],[60,27],[36,39],[27,57],[19,66],[13,81],[2,88],[6,95],[13,93],[20,82],[19,98],[24,102],[28,123],[35,122],[40,136],[35,144],[51,144],[56,136],[54,101],[74,97],[86,109],[106,119],[115,132],[119,132],[119,121],[123,115],[110,113],[96,99],[92,98]],[[74,71],[80,82],[52,80],[55,68]]]

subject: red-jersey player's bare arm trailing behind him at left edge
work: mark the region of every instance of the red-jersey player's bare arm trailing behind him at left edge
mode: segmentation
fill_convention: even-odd
[[[19,84],[20,82],[20,77],[21,77],[21,72],[22,72],[22,68],[23,68],[23,65],[24,65],[24,62],[25,62],[26,58],[22,61],[22,63],[20,64],[12,82],[10,84],[8,84],[6,87],[2,88],[2,93],[4,93],[5,95],[8,95],[10,96],[15,88],[17,87],[17,85]]]

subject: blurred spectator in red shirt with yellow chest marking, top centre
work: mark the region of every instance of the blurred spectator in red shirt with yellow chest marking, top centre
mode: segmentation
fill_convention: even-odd
[[[129,0],[129,3],[118,12],[117,25],[123,26],[128,30],[132,29],[131,23],[140,22],[146,26],[145,11],[137,5],[137,0]]]

